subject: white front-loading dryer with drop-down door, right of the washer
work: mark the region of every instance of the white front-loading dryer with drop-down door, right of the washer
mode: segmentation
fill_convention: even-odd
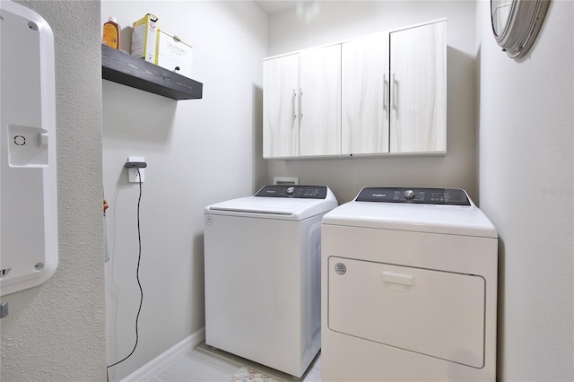
[[[322,225],[324,381],[494,381],[498,235],[462,189],[363,188]]]

